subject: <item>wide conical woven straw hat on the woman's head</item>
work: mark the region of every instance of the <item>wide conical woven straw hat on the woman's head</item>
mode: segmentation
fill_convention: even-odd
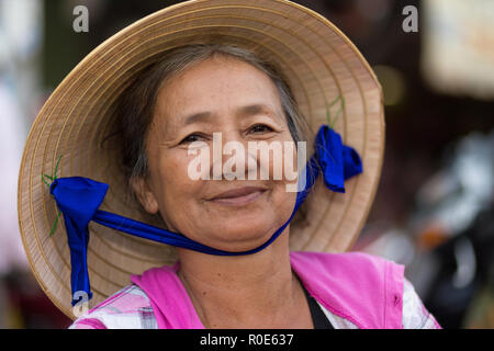
[[[289,79],[300,110],[314,131],[326,107],[344,99],[334,126],[357,150],[363,173],[346,181],[346,193],[316,185],[306,200],[306,219],[292,225],[292,250],[345,251],[358,237],[378,186],[384,120],[380,84],[352,43],[327,19],[285,0],[193,0],[153,13],[113,35],[64,79],[33,123],[19,174],[19,222],[38,283],[74,318],[70,253],[63,220],[49,236],[57,207],[41,174],[88,177],[110,184],[101,210],[149,223],[125,196],[117,157],[102,139],[111,132],[119,94],[157,54],[203,42],[239,45],[269,57]],[[90,223],[90,307],[130,284],[131,274],[170,264],[175,249]]]

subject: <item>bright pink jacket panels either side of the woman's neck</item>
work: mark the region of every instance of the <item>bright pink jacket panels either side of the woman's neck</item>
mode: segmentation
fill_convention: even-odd
[[[360,252],[291,252],[290,262],[305,288],[333,314],[362,329],[403,328],[403,265]],[[159,328],[202,329],[178,268],[154,268],[132,282],[149,297]]]

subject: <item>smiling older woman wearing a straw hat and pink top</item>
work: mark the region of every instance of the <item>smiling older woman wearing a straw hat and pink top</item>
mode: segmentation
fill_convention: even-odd
[[[81,115],[82,121],[75,122],[75,116],[69,118],[71,122],[67,123],[76,126],[70,129],[92,131],[87,132],[88,135],[98,134],[99,140],[103,140],[99,144],[103,149],[106,141],[113,140],[114,146],[106,148],[111,157],[102,158],[98,152],[85,151],[82,138],[69,138],[69,144],[74,145],[70,151],[55,151],[63,155],[58,158],[61,167],[57,165],[52,176],[42,176],[43,180],[52,181],[48,191],[63,213],[67,231],[67,242],[63,241],[64,236],[58,233],[60,226],[54,226],[55,233],[44,240],[54,241],[55,251],[60,257],[70,253],[74,308],[98,297],[98,304],[89,312],[85,310],[83,315],[72,308],[71,315],[78,318],[70,328],[438,328],[434,317],[427,313],[412,285],[404,279],[403,267],[362,253],[314,252],[343,251],[359,230],[355,222],[362,220],[368,210],[355,205],[359,208],[351,211],[345,206],[345,202],[352,206],[351,202],[343,200],[350,195],[345,193],[347,183],[355,180],[350,178],[369,174],[368,185],[353,193],[357,197],[363,197],[367,204],[372,200],[372,186],[375,186],[375,177],[372,174],[379,173],[372,166],[372,159],[366,155],[372,155],[372,145],[369,146],[372,143],[364,143],[357,152],[349,146],[350,143],[341,143],[336,132],[339,121],[330,120],[335,115],[332,107],[339,102],[346,114],[369,118],[368,127],[374,128],[374,133],[382,128],[382,123],[371,121],[382,116],[380,109],[375,110],[375,102],[381,104],[380,94],[370,92],[368,97],[361,90],[379,90],[370,69],[362,64],[363,58],[348,39],[341,39],[343,34],[316,13],[289,1],[258,1],[257,10],[247,7],[248,3],[231,1],[231,4],[245,7],[246,16],[252,15],[249,20],[252,33],[261,35],[254,41],[252,34],[245,42],[250,43],[250,46],[238,42],[239,34],[235,35],[240,24],[245,25],[245,16],[237,19],[237,22],[222,16],[234,16],[237,13],[235,7],[216,0],[188,1],[137,22],[103,44],[97,54],[87,58],[63,82],[64,90],[59,88],[54,93],[55,98],[52,97],[41,112],[38,120],[47,121],[53,114],[64,115],[64,109],[56,111],[54,104],[65,101],[68,106],[78,100],[81,109],[86,104],[87,111]],[[216,4],[224,7],[215,8]],[[205,22],[210,29],[220,29],[222,35],[201,32],[203,30],[199,24],[205,21],[201,18],[201,11],[205,14],[222,12],[222,15],[215,13],[213,20],[210,18]],[[257,20],[255,13],[249,11],[258,11]],[[289,53],[284,53],[283,57],[281,48],[274,54],[277,49],[268,41],[272,37],[271,32],[256,21],[263,20],[263,25],[269,25],[270,20],[277,20],[269,16],[278,16],[283,11],[299,22],[294,32],[285,23],[285,39],[279,41],[285,41],[287,47],[290,47],[287,41],[296,36],[296,30],[299,33],[308,31],[313,25],[321,25],[321,31],[330,31],[332,35],[336,33],[333,45],[339,43],[344,47],[343,53],[351,56],[347,60],[355,72],[350,72],[347,78],[352,77],[358,83],[345,87],[341,77],[330,83],[324,79],[323,72],[318,81],[317,72],[312,71],[312,76],[308,76],[305,67],[297,66],[303,59],[296,58],[293,52],[290,54],[294,55],[292,58]],[[179,22],[180,27],[199,31],[193,32],[197,35],[195,43],[183,44],[187,33],[173,37],[172,24],[162,33],[157,27],[153,29],[165,22],[165,19],[179,19],[181,15],[186,22]],[[302,16],[308,20],[300,22]],[[235,23],[238,23],[238,27]],[[273,27],[281,29],[277,25]],[[159,45],[148,42],[143,45],[147,50],[139,54],[139,59],[135,59],[137,56],[134,59],[126,56],[130,53],[138,55],[133,49],[139,47],[137,38],[162,38],[164,33],[170,35],[168,42],[157,41]],[[126,42],[128,37],[133,39]],[[322,59],[321,54],[325,48],[316,46],[315,38],[310,38],[307,34],[307,39],[299,37],[299,41],[308,41],[308,46]],[[177,44],[180,42],[182,45]],[[260,46],[263,50],[257,48],[256,43],[262,43]],[[172,48],[164,49],[169,44]],[[266,58],[270,47],[273,49],[271,60]],[[302,46],[297,49],[302,50]],[[109,79],[110,72],[103,73],[102,69],[110,69],[111,65],[111,60],[102,57],[103,53],[117,54],[113,56],[114,59],[119,55],[124,57],[117,67],[112,66],[115,75],[113,80]],[[265,57],[261,58],[262,53]],[[311,56],[305,59],[307,57]],[[98,66],[90,67],[91,60],[99,59],[102,66],[98,70],[94,68]],[[285,72],[279,67],[283,61]],[[313,64],[317,67],[317,63]],[[89,70],[83,70],[85,65]],[[297,72],[301,87],[293,87],[296,82],[294,77],[290,83],[290,78],[287,78],[290,71],[287,70]],[[106,81],[99,88],[80,90],[79,87],[78,91],[82,95],[90,89],[98,91],[92,99],[100,101],[100,104],[94,103],[94,106],[109,102],[110,107],[91,107],[88,105],[90,98],[70,95],[68,87],[77,84],[78,80],[88,81],[90,73],[106,75]],[[332,75],[338,77],[338,73]],[[316,82],[317,87],[311,88]],[[114,84],[122,88],[117,99],[112,100],[103,88],[110,89]],[[318,99],[323,95],[318,95],[315,90],[311,92],[311,89],[324,90],[322,84],[339,86],[348,99],[338,95],[330,100],[333,103],[322,104],[324,100]],[[306,89],[305,95],[303,89]],[[57,94],[63,98],[57,98]],[[362,95],[356,99],[355,94]],[[305,99],[303,104],[299,102],[302,99]],[[363,110],[359,107],[362,101]],[[74,111],[75,105],[71,106],[70,111]],[[307,109],[313,113],[323,111],[323,118],[313,116],[308,121],[303,112]],[[98,113],[108,121],[105,123],[110,133],[99,133],[98,128],[89,127],[91,120],[88,116]],[[333,125],[323,125],[325,120]],[[40,124],[35,123],[33,129]],[[350,121],[344,128],[358,131],[359,127],[357,122]],[[311,129],[314,128],[319,131],[314,144],[314,156],[308,158],[305,157],[304,141],[308,141],[308,147],[312,147]],[[30,148],[30,143],[44,137],[35,133],[32,132],[35,136],[31,136],[27,141],[27,155],[24,156],[22,169],[26,169],[27,160],[34,157],[29,154],[35,152]],[[65,137],[60,136],[69,132],[58,129],[54,133],[61,140]],[[361,133],[347,133],[353,135],[347,138],[350,141],[352,138],[362,138]],[[366,131],[363,135],[367,139]],[[374,137],[381,138],[382,134]],[[48,145],[49,140],[43,143]],[[291,144],[295,146],[288,147]],[[251,145],[259,149],[252,152]],[[273,145],[280,147],[274,148]],[[266,155],[278,152],[279,158],[257,157],[257,151],[262,154],[262,148],[265,151],[267,149]],[[77,166],[78,162],[80,165],[78,160],[85,157],[79,154],[85,152],[94,159],[91,166],[88,165],[97,169],[92,173]],[[382,156],[382,148],[373,154],[375,156]],[[101,161],[96,161],[98,157]],[[308,162],[301,162],[301,159],[308,159]],[[69,160],[70,163],[67,163]],[[106,184],[89,178],[58,177],[64,162],[65,169],[70,169],[67,173],[90,174],[91,178],[105,180],[111,185],[110,190]],[[76,165],[72,166],[72,162]],[[288,174],[288,163],[299,166],[296,179]],[[101,170],[105,167],[111,171],[103,174]],[[282,177],[276,177],[279,171]],[[346,180],[348,182],[344,184]],[[23,184],[21,180],[21,193]],[[134,196],[122,196],[125,184],[128,184]],[[293,184],[299,188],[289,191]],[[106,191],[111,192],[113,188],[117,191],[106,195]],[[340,193],[341,197],[332,197],[329,190]],[[328,197],[332,202],[339,202],[340,211],[323,208]],[[124,205],[116,205],[119,201]],[[99,210],[101,203],[110,212]],[[126,214],[128,207],[137,208],[130,211],[128,217],[147,218],[157,225],[146,225],[116,214]],[[25,211],[20,205],[21,218],[26,217],[22,215]],[[349,223],[341,220],[345,216],[349,217]],[[46,268],[43,271],[38,268],[35,260],[40,260],[40,254],[32,259],[35,261],[32,263],[33,270],[37,272],[36,276],[48,296],[67,312],[68,308],[64,307],[67,306],[67,298],[61,302],[67,296],[66,292],[60,293],[60,288],[56,288],[60,282],[67,281],[67,274],[63,278],[63,272],[54,273],[61,270],[60,263],[53,263],[55,259],[49,258],[53,252],[46,253],[49,250],[46,245],[42,245],[41,249],[32,248],[30,238],[33,234],[27,233],[27,220],[21,219],[21,229],[29,257],[34,250],[45,252],[42,257],[47,258],[56,279],[48,276]],[[88,227],[91,220],[99,225],[91,224]],[[336,244],[330,246],[327,241],[327,238],[336,240],[338,236],[334,225],[336,220],[340,220],[343,229],[348,230],[339,234],[347,238],[345,244],[339,239],[339,247]],[[103,228],[100,225],[105,226],[104,235],[99,233]],[[162,251],[162,245],[158,248],[156,244],[120,235],[114,229],[168,244],[176,249],[172,253]],[[310,237],[306,234],[308,229],[315,235]],[[317,234],[321,230],[324,235]],[[291,242],[295,236],[299,237],[299,244]],[[92,244],[93,240],[98,241]],[[294,251],[292,246],[313,250]],[[112,250],[119,252],[120,257],[110,253]],[[168,259],[166,262],[172,264],[159,263],[157,258],[162,259],[165,256]],[[146,265],[143,269],[135,261],[144,261]],[[88,269],[91,264],[92,268]],[[109,268],[105,270],[104,267]],[[114,268],[121,268],[120,273],[128,269],[131,274],[126,276],[132,275],[130,284],[122,284],[125,286],[116,293],[115,281],[119,278],[112,273]],[[125,272],[121,275],[125,275]],[[113,281],[114,286],[105,286],[102,282],[105,279]],[[113,292],[105,293],[103,288]],[[93,296],[93,292],[98,296]]]

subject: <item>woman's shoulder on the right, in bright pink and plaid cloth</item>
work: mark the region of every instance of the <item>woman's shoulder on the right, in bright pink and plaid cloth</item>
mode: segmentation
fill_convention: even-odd
[[[340,328],[440,328],[402,264],[364,252],[291,252],[291,262]]]

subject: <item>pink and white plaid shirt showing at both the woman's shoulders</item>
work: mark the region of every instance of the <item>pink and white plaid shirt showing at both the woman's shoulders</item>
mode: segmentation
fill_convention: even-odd
[[[335,329],[357,329],[351,321],[332,314],[318,304]],[[405,279],[403,328],[440,329],[424,307],[413,285]],[[137,285],[127,285],[74,321],[69,329],[157,329],[158,324],[147,295]]]

